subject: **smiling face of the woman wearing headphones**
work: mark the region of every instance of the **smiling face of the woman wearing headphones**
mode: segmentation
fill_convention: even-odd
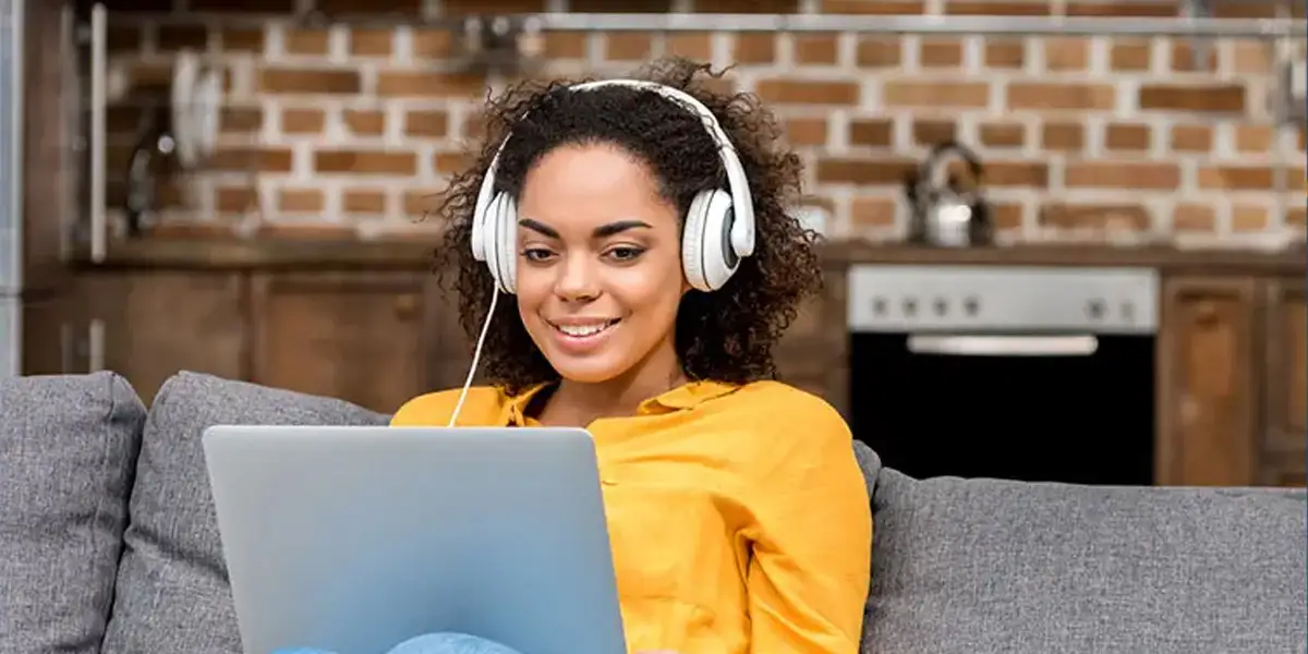
[[[518,314],[564,379],[679,370],[680,217],[642,161],[607,144],[556,148],[527,173],[518,218]]]

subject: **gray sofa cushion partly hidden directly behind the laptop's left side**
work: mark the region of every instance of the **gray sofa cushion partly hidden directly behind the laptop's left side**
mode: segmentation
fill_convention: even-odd
[[[106,654],[239,654],[200,434],[211,425],[385,425],[327,398],[181,373],[145,424]]]

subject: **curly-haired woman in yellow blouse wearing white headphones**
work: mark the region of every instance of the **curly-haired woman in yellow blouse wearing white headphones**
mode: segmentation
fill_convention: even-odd
[[[821,281],[815,235],[786,213],[800,161],[708,67],[647,73],[662,86],[490,102],[441,212],[489,385],[416,398],[391,424],[590,430],[632,651],[854,654],[871,515],[850,433],[773,381],[772,347]],[[392,650],[508,651],[443,633]]]

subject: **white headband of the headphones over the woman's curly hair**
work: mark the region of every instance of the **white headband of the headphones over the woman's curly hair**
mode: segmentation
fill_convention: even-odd
[[[623,86],[657,93],[664,99],[680,105],[683,109],[701,119],[704,129],[713,139],[714,145],[717,145],[718,157],[722,160],[722,169],[727,175],[732,211],[735,212],[735,221],[730,235],[731,246],[739,256],[752,255],[755,247],[755,222],[753,196],[749,192],[749,181],[744,174],[744,166],[740,165],[740,157],[736,154],[735,146],[731,144],[731,139],[727,137],[726,131],[722,129],[722,124],[718,123],[718,118],[713,115],[713,111],[684,90],[646,80],[598,80],[568,86],[568,90],[586,92],[602,89],[604,86]],[[485,234],[481,229],[480,216],[484,215],[490,205],[490,200],[494,199],[494,181],[496,173],[500,169],[500,154],[504,153],[510,137],[511,129],[509,135],[505,135],[504,141],[500,143],[500,148],[496,149],[494,157],[490,160],[490,166],[487,167],[487,174],[481,178],[481,187],[477,190],[477,203],[473,209],[472,220],[472,252],[479,260],[485,260],[487,241],[493,238]]]

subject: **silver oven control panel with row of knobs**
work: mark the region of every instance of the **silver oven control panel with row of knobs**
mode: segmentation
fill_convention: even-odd
[[[1152,268],[853,266],[849,328],[1152,334],[1158,296]]]

